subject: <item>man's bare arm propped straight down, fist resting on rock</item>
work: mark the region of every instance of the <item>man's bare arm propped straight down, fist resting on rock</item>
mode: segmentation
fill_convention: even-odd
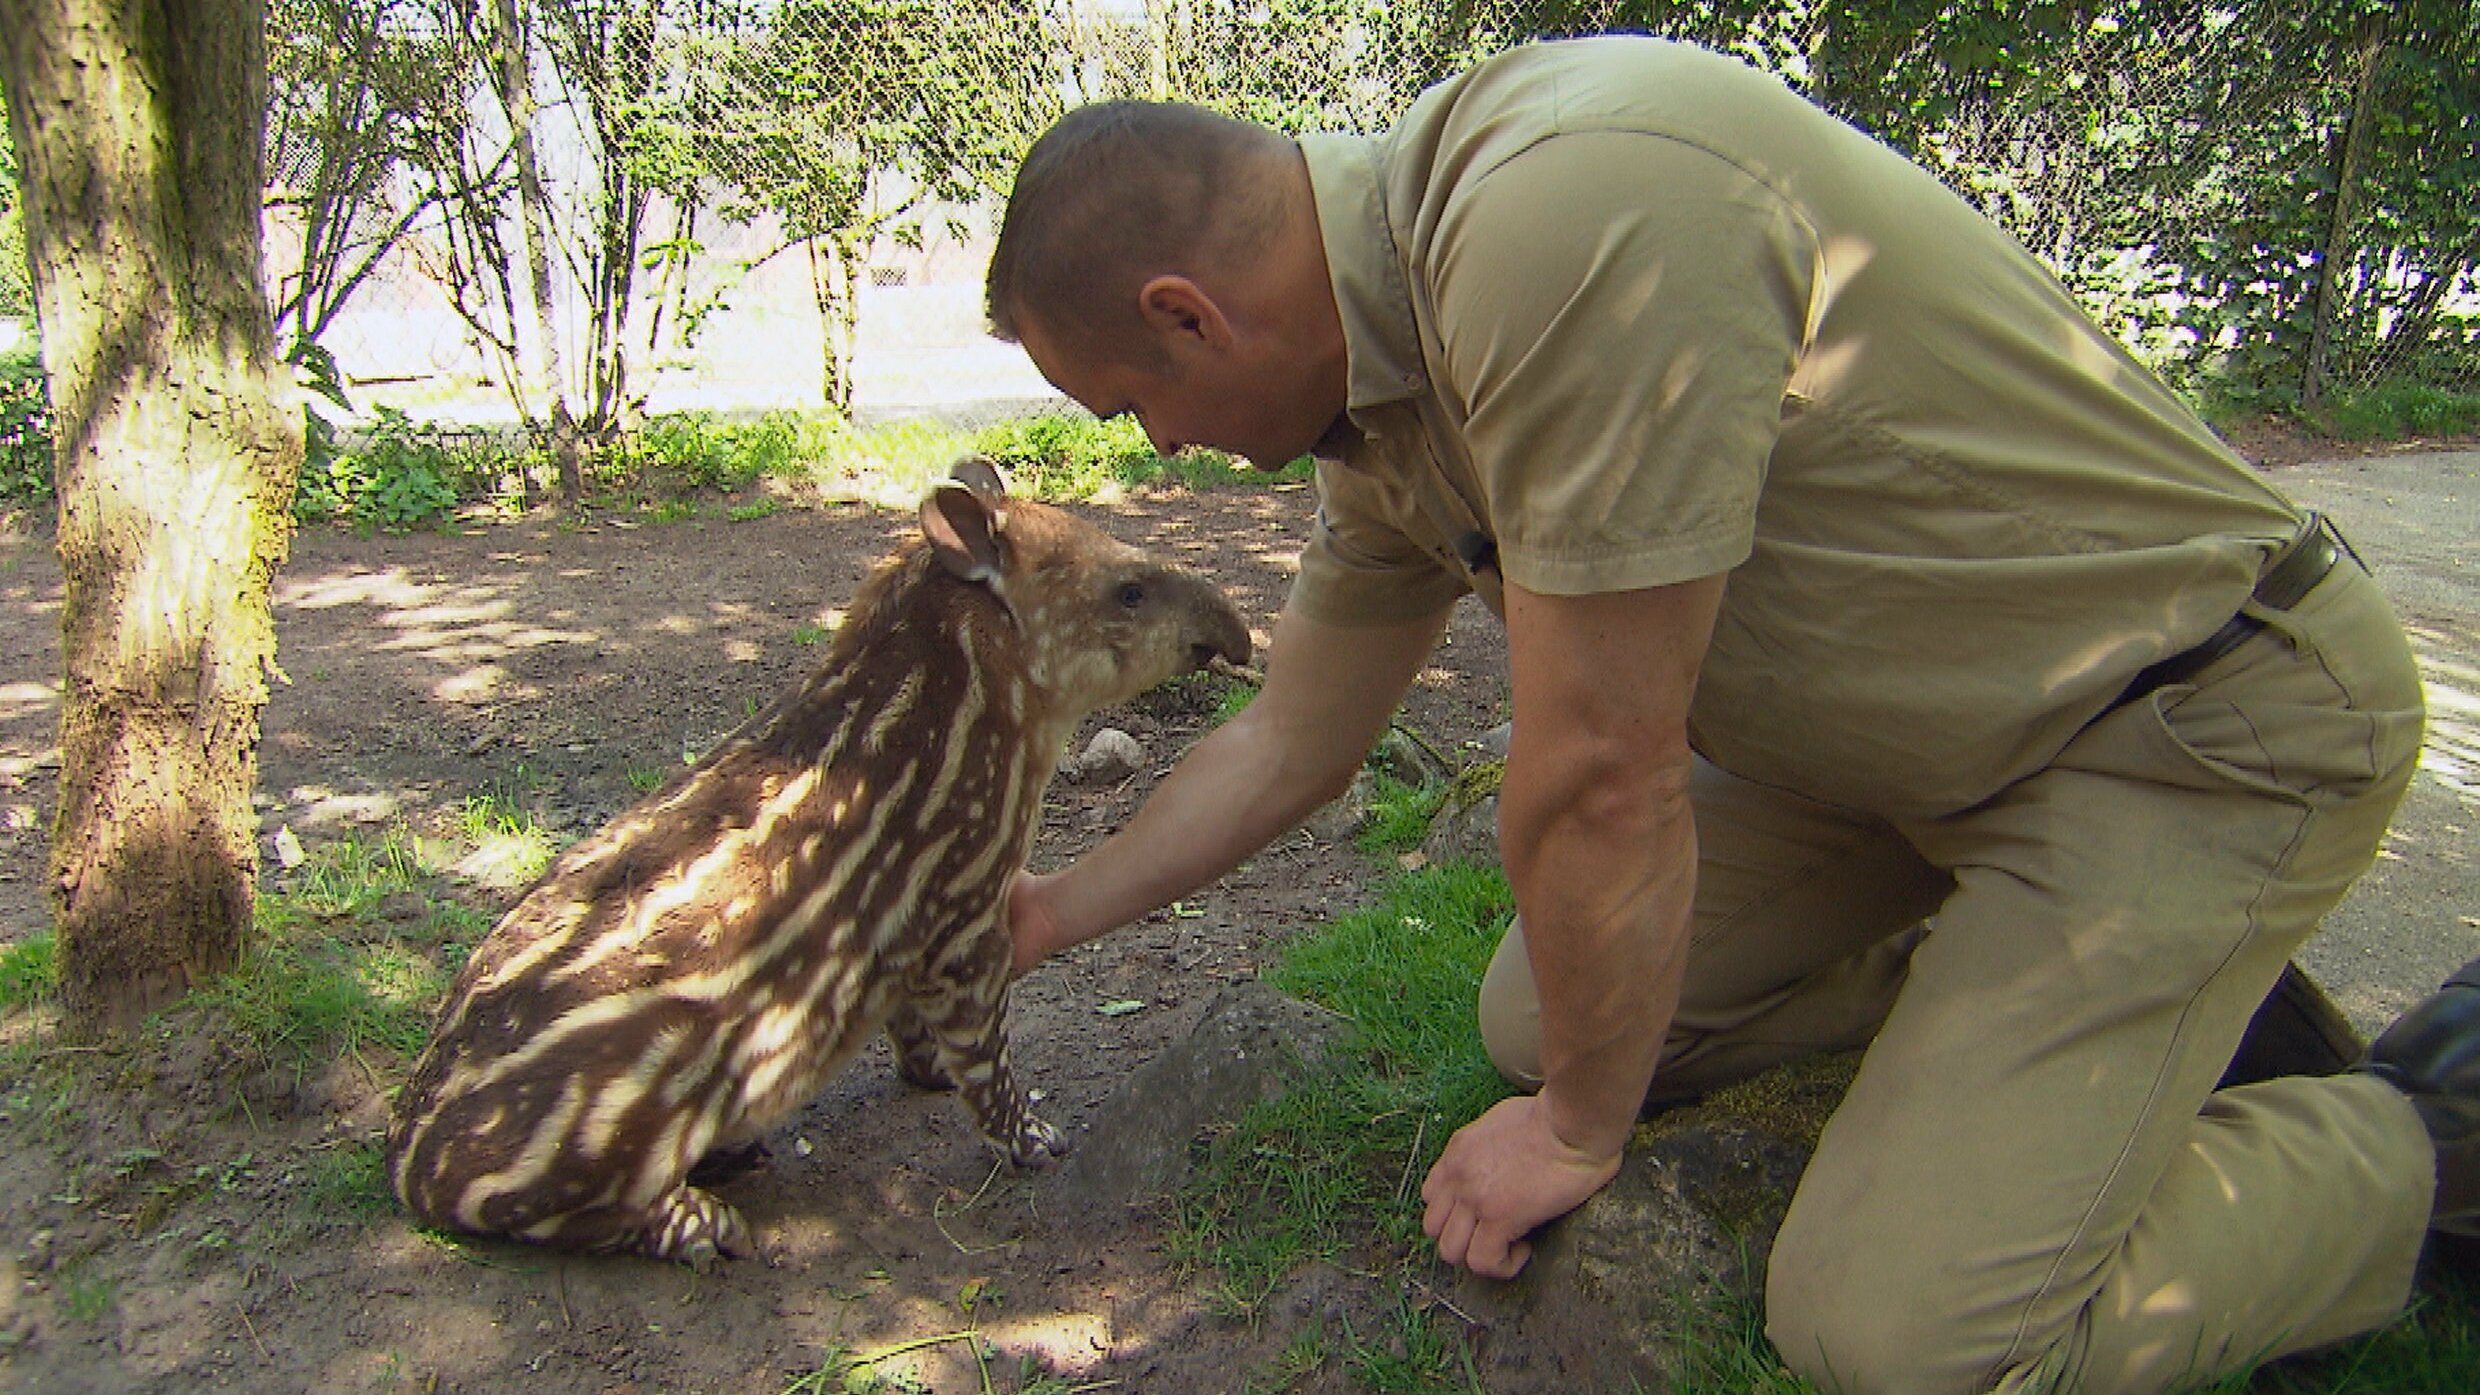
[[[1721,578],[1607,596],[1508,586],[1515,742],[1498,827],[1543,1005],[1543,1090],[1448,1142],[1438,1254],[1495,1278],[1617,1172],[1679,1005],[1696,824],[1686,712]]]

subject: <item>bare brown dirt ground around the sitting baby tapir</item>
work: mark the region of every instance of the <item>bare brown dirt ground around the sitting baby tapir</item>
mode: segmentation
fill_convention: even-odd
[[[1210,571],[1262,643],[1307,511],[1302,487],[1280,487],[1146,494],[1089,516]],[[310,849],[374,844],[387,827],[449,829],[491,794],[580,837],[637,799],[632,774],[677,769],[806,673],[818,628],[910,526],[831,506],[305,531],[278,583],[293,683],[265,712],[263,829]],[[0,541],[0,941],[47,921],[57,608],[50,541]],[[1411,722],[1443,745],[1478,735],[1500,715],[1500,673],[1498,628],[1468,608]],[[1114,787],[1056,782],[1034,864],[1128,819],[1208,717],[1200,690],[1096,717],[1136,735],[1153,767]],[[1076,1132],[1220,985],[1352,906],[1369,876],[1354,849],[1302,834],[1178,913],[1029,976],[1012,1040],[1047,1117]],[[513,891],[459,899],[496,916]],[[305,1194],[320,1164],[377,1137],[397,1070],[365,1052],[300,1072],[221,1040],[154,1040],[84,1072],[69,1102],[0,1100],[0,1390],[776,1393],[831,1353],[977,1328],[1002,1353],[987,1378],[965,1340],[875,1375],[937,1393],[1042,1388],[1042,1370],[1061,1378],[1047,1390],[1203,1393],[1238,1390],[1287,1335],[1208,1313],[1203,1281],[1166,1261],[1143,1214],[1037,1214],[962,1110],[905,1087],[878,1047],[776,1137],[766,1172],[727,1186],[761,1261],[692,1276],[451,1249],[394,1211],[317,1214]],[[1039,1368],[1022,1370],[1027,1358]]]

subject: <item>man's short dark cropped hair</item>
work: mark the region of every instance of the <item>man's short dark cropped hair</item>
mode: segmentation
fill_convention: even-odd
[[[1111,352],[1138,343],[1136,293],[1195,276],[1272,233],[1280,196],[1262,161],[1292,141],[1176,102],[1096,102],[1027,151],[990,256],[990,333]]]

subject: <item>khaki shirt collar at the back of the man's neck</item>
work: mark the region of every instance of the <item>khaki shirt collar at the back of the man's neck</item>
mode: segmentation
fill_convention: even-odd
[[[1347,412],[1404,402],[1428,387],[1421,335],[1411,318],[1404,258],[1396,256],[1379,184],[1379,141],[1304,134],[1300,154],[1317,201],[1317,236],[1327,246],[1334,308],[1344,320]]]

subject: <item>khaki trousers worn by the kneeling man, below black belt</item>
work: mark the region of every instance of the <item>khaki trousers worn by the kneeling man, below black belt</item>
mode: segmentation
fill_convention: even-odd
[[[2177,1390],[2408,1298],[2435,1182],[2408,1100],[2363,1075],[2215,1090],[2373,861],[2420,740],[2363,571],[2259,618],[2274,633],[1954,817],[1699,769],[1654,1100],[1867,1043],[1766,1286],[1768,1335],[1820,1390]],[[1520,928],[1481,1018],[1538,1082]]]

